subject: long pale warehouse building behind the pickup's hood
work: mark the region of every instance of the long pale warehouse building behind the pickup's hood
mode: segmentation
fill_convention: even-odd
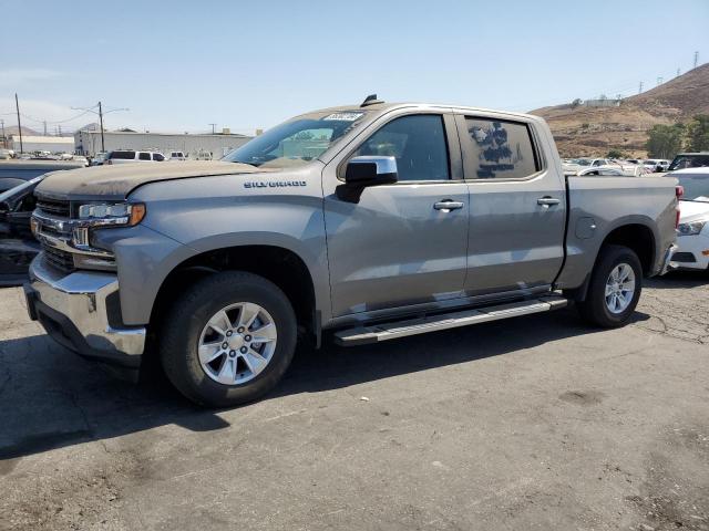
[[[223,129],[215,134],[178,134],[178,133],[138,133],[134,131],[105,131],[103,142],[105,150],[135,149],[156,150],[169,156],[169,152],[183,152],[185,155],[196,158],[199,154],[210,154],[212,158],[219,159],[232,149],[235,149],[253,137],[232,134],[229,129]],[[101,152],[101,131],[81,129],[74,134],[73,148],[80,155],[93,157]]]

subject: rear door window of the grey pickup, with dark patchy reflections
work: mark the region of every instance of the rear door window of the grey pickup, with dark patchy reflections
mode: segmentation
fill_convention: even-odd
[[[471,143],[464,149],[466,167],[477,179],[520,179],[540,170],[526,124],[466,117]],[[472,146],[472,147],[471,147]]]

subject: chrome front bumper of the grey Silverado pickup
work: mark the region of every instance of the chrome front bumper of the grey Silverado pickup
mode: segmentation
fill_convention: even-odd
[[[28,312],[58,343],[86,357],[137,368],[145,348],[143,326],[121,322],[119,280],[113,273],[55,272],[40,253],[24,284]]]

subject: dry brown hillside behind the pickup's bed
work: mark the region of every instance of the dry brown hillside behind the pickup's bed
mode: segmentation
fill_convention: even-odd
[[[643,94],[626,97],[618,107],[572,108],[565,104],[531,113],[548,122],[562,156],[604,156],[608,149],[617,148],[645,157],[650,127],[709,114],[709,63]]]

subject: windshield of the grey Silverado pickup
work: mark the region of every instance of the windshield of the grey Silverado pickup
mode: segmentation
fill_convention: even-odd
[[[268,129],[222,160],[265,168],[307,164],[357,126],[364,114],[358,110],[304,115]]]

